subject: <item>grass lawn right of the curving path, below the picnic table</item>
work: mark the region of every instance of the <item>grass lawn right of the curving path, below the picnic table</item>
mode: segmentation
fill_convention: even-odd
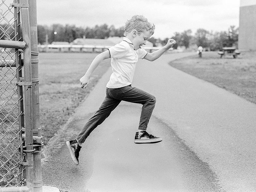
[[[170,65],[256,103],[256,52],[242,52],[236,59],[203,52],[202,58],[195,55]]]

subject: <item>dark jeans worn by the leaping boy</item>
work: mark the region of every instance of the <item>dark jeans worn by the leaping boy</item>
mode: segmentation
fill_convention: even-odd
[[[128,101],[131,103],[140,103],[143,105],[140,117],[139,129],[146,130],[149,119],[155,108],[156,97],[150,95],[149,93],[132,87],[131,85],[116,88],[116,89],[106,89],[106,97],[102,102],[100,108],[93,117],[85,124],[83,129],[77,136],[77,140],[83,143],[89,134],[100,125],[110,113],[117,107],[121,101]]]

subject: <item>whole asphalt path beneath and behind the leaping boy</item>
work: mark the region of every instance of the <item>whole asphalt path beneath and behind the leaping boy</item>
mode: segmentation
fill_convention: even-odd
[[[98,110],[109,70],[46,149],[44,185],[69,192],[256,191],[256,106],[168,65],[189,54],[137,64],[132,85],[156,96],[148,132],[162,142],[134,144],[141,105],[121,102],[85,141],[80,165],[72,163],[65,141]]]

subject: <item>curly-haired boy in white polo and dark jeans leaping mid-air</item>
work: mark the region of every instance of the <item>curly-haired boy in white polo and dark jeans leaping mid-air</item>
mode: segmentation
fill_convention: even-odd
[[[169,50],[176,41],[169,39],[167,44],[159,50],[149,53],[141,46],[146,44],[155,30],[155,25],[141,15],[135,15],[126,22],[123,41],[98,54],[92,61],[85,75],[80,79],[81,88],[85,89],[91,74],[101,61],[111,58],[113,73],[107,83],[106,97],[98,111],[91,117],[75,140],[67,141],[67,146],[76,165],[79,164],[79,152],[83,142],[89,134],[100,125],[121,101],[142,104],[139,130],[135,134],[134,143],[156,143],[162,138],[146,132],[147,125],[156,104],[156,98],[145,91],[132,87],[132,79],[138,59],[154,61]],[[125,137],[125,136],[124,136]]]

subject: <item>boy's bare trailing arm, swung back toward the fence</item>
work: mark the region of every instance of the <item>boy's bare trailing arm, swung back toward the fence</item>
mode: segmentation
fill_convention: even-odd
[[[89,83],[90,77],[93,73],[93,71],[97,68],[99,63],[103,61],[104,59],[110,58],[109,51],[104,51],[100,54],[98,54],[94,60],[92,61],[91,65],[87,69],[86,73],[84,74],[83,77],[81,77],[80,82],[81,82],[81,88],[85,89]]]

